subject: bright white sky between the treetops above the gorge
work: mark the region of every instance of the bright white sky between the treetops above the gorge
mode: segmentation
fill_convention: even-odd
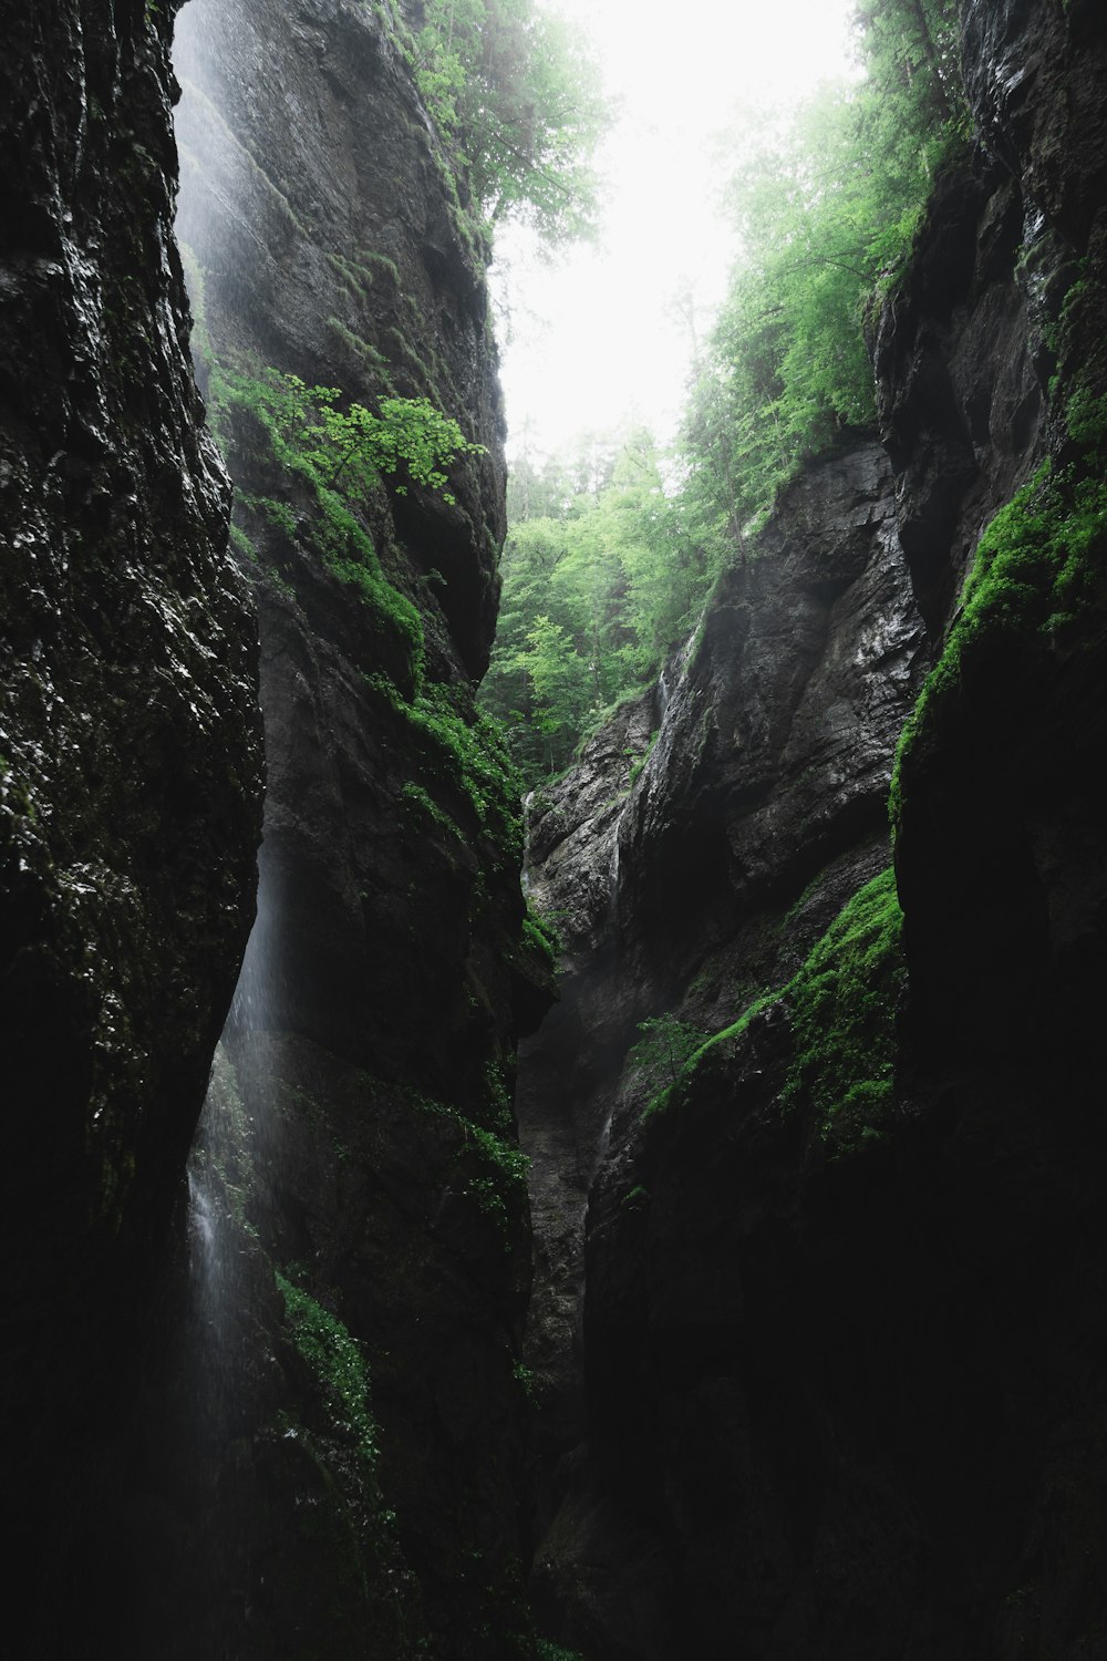
[[[851,0],[551,3],[588,30],[622,113],[601,154],[602,246],[548,269],[518,233],[500,236],[510,455],[626,419],[672,437],[690,365],[672,301],[690,284],[704,332],[734,256],[712,140],[737,105],[795,101],[848,63]]]

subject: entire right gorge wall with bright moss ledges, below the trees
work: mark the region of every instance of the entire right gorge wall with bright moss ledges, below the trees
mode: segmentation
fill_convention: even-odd
[[[1104,1648],[1105,30],[963,10],[983,143],[873,341],[895,488],[863,575],[787,553],[823,463],[533,822],[571,947],[533,1050],[583,1126],[571,1183],[536,1173],[568,1262],[539,1365],[579,1279],[556,1201],[588,1191],[588,1400],[548,1367],[573,1412],[534,1581],[604,1661]],[[906,586],[936,666],[900,739]],[[669,1060],[619,1075],[662,1013]],[[521,1101],[564,1143],[529,1063]]]

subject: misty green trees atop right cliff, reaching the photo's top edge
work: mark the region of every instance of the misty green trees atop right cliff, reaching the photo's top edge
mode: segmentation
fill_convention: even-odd
[[[782,128],[744,130],[730,206],[744,257],[687,419],[689,512],[742,546],[778,488],[875,419],[863,319],[903,267],[934,171],[963,140],[953,0],[863,0],[865,78]]]

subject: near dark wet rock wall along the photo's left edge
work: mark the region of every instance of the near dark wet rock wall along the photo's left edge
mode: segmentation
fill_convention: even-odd
[[[173,243],[171,13],[3,7],[5,1422],[10,1502],[46,1565],[25,1588],[37,1654],[234,990],[261,829],[256,628]]]

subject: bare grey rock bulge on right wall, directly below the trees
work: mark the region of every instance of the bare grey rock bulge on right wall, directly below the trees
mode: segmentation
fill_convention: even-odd
[[[921,651],[891,472],[863,445],[813,468],[719,585],[622,826],[619,920],[682,940],[674,985],[881,834]]]

